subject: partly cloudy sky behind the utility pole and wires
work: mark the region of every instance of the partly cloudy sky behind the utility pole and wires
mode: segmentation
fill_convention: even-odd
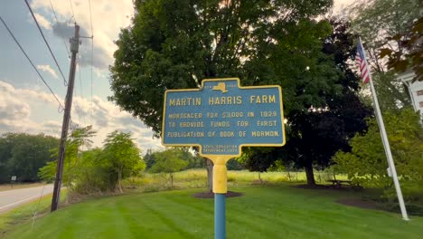
[[[334,12],[339,12],[351,2],[334,1]],[[80,25],[81,36],[94,36],[92,63],[91,39],[81,39],[71,111],[72,123],[92,125],[97,130],[93,146],[101,147],[108,133],[121,130],[131,132],[144,152],[149,148],[163,148],[160,139],[153,139],[152,130],[140,119],[120,110],[107,99],[112,95],[108,66],[113,64],[113,53],[117,50],[114,41],[118,39],[120,29],[130,24],[134,14],[132,0],[91,0],[92,14],[89,13],[88,0],[30,0],[29,3],[61,71],[43,42],[24,0],[1,1],[0,16],[62,105],[67,87],[61,72],[68,80],[71,61],[67,49],[74,32],[74,22]],[[60,137],[63,112],[59,102],[42,83],[3,24],[0,24],[0,54],[0,134],[43,132]]]

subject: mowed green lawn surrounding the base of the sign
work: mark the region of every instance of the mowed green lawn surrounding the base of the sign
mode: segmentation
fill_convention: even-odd
[[[351,193],[291,186],[230,188],[228,238],[421,238],[423,218],[343,206]],[[213,238],[213,200],[201,189],[91,199],[15,225],[6,238]]]

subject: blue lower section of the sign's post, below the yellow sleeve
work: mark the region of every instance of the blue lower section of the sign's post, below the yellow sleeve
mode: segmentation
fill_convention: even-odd
[[[226,238],[225,194],[214,194],[214,239]]]

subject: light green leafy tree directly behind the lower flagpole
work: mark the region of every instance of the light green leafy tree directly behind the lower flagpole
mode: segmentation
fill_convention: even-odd
[[[334,156],[336,167],[348,175],[353,183],[378,186],[385,196],[395,197],[392,179],[387,175],[387,159],[381,133],[375,119],[369,120],[364,135],[350,141],[351,152],[339,151]],[[410,198],[423,190],[423,128],[418,113],[410,108],[388,111],[384,115],[385,128],[404,196]]]

